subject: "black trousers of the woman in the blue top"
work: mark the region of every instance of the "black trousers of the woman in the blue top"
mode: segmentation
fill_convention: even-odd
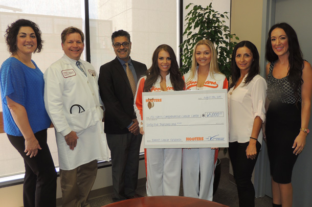
[[[8,135],[9,141],[24,158],[24,207],[56,206],[56,178],[53,159],[47,144],[47,129],[35,133],[41,150],[35,157],[26,156],[23,136]]]

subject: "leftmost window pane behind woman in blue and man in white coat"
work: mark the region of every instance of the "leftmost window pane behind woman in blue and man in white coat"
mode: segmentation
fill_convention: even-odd
[[[61,32],[69,26],[83,29],[84,26],[84,1],[40,1],[27,0],[2,1],[0,5],[0,63],[9,56],[5,42],[5,31],[13,21],[25,18],[34,21],[42,32],[43,50],[32,55],[40,70],[46,69],[56,60],[62,57]],[[81,57],[84,59],[84,57]],[[1,103],[0,103],[1,104]],[[1,107],[2,110],[2,107]],[[58,166],[57,147],[54,129],[48,130],[48,144],[54,160]],[[17,150],[9,142],[5,133],[0,134],[0,177],[25,172],[24,160]]]

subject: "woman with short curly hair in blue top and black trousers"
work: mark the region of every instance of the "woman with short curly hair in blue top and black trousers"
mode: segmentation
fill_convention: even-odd
[[[56,171],[47,144],[51,121],[44,108],[43,74],[31,59],[40,52],[39,27],[18,19],[6,30],[11,56],[0,69],[4,130],[24,158],[24,206],[56,205]]]

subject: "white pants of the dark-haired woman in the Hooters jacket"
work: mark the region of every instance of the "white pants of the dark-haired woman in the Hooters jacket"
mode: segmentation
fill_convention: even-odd
[[[182,149],[146,149],[147,196],[179,196]]]

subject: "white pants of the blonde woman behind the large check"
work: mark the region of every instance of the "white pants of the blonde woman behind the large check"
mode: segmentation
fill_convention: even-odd
[[[211,148],[183,149],[182,178],[184,196],[212,201],[214,156],[215,150]]]

